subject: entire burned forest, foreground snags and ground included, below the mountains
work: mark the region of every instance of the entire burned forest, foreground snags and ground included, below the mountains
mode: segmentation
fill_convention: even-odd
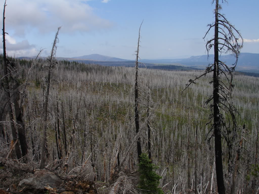
[[[243,39],[219,3],[214,63],[189,71],[139,62],[145,21],[135,67],[57,60],[62,27],[48,57],[8,56],[5,3],[0,193],[257,194],[259,78],[235,72]]]

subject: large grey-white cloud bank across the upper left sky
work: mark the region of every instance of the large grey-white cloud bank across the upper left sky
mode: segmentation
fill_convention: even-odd
[[[11,29],[14,35],[24,37],[32,29],[44,34],[56,31],[57,27],[62,26],[62,33],[72,34],[100,30],[113,25],[109,20],[98,17],[86,2],[86,0],[10,1],[5,11],[6,30]]]

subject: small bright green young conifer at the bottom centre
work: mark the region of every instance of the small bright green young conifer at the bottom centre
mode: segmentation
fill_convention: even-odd
[[[159,188],[159,180],[162,178],[158,174],[156,174],[154,169],[158,167],[151,163],[149,160],[148,155],[142,153],[140,155],[140,163],[139,163],[139,173],[140,173],[140,180],[138,188],[142,189],[141,192],[144,194],[156,193],[156,194],[163,194],[161,188]]]

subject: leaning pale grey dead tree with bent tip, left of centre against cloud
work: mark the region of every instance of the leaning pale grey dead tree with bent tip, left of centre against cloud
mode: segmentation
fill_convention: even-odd
[[[55,39],[53,42],[52,50],[51,50],[51,55],[48,56],[47,58],[47,63],[48,63],[48,75],[46,78],[46,93],[45,93],[45,99],[44,99],[44,118],[43,118],[43,135],[42,135],[42,145],[41,145],[41,161],[40,161],[40,169],[43,169],[45,167],[45,153],[47,151],[47,116],[48,116],[48,99],[49,99],[49,88],[51,86],[51,72],[52,69],[54,68],[54,58],[56,54],[56,44],[59,42],[59,39],[57,38],[57,35],[59,34],[59,30],[61,27],[58,27],[57,33],[55,35]]]

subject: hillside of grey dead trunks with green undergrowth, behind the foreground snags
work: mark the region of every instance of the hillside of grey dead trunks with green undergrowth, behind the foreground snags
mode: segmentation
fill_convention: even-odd
[[[13,79],[19,82],[19,91],[23,91],[32,61],[13,60],[17,69],[12,72]],[[126,193],[133,192],[127,184],[134,184],[135,175],[130,174],[134,174],[138,168],[134,127],[134,73],[135,69],[130,67],[107,67],[69,61],[58,61],[55,64],[48,101],[47,168],[92,181],[111,183],[118,175],[124,174],[128,179],[121,189]],[[213,134],[210,132],[211,124],[206,124],[209,121],[210,107],[204,106],[212,92],[208,84],[211,75],[199,79],[197,84],[181,93],[188,80],[200,73],[202,72],[140,69],[142,152],[147,153],[149,121],[152,130],[152,162],[159,167],[157,173],[162,176],[160,186],[166,193],[187,192],[195,184],[198,185],[199,192],[216,191],[214,144],[211,140]],[[3,74],[1,63],[1,75]],[[25,158],[35,168],[39,167],[41,159],[47,74],[46,61],[38,59],[28,78],[26,91],[19,92],[20,96],[25,97],[22,105],[28,146]],[[228,134],[232,137],[230,151],[226,141],[222,141],[224,175],[226,187],[230,188],[236,151],[243,139],[237,189],[241,193],[248,193],[243,191],[252,191],[258,187],[259,79],[236,75],[233,83],[233,103],[239,112],[236,118],[240,127],[235,134]],[[1,97],[3,94],[2,89]],[[16,101],[17,98],[14,98],[15,95],[12,95],[11,100]],[[2,101],[1,104],[4,103]],[[17,159],[12,147],[12,123],[7,110],[3,113],[1,157]],[[244,123],[245,129],[242,130]],[[16,127],[19,128],[17,123]],[[16,142],[18,144],[19,141]],[[12,181],[17,175],[4,169],[5,167],[0,169],[1,187],[9,188],[11,184],[17,184],[15,181],[19,178]]]

